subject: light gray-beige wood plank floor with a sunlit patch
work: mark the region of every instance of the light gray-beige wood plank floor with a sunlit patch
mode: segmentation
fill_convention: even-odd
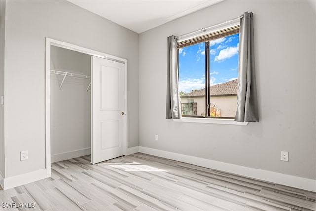
[[[316,211],[315,192],[142,153],[96,165],[83,156],[51,170],[51,178],[1,190],[1,210]]]

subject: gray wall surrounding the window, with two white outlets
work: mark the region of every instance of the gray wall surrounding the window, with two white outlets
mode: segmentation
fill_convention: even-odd
[[[246,11],[254,13],[260,122],[236,126],[166,120],[167,36]],[[140,146],[316,179],[315,29],[315,2],[224,1],[141,33]],[[289,152],[289,162],[280,161],[280,151]]]

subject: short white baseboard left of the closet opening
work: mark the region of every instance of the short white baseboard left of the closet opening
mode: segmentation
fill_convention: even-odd
[[[2,174],[1,174],[1,178],[2,178]],[[40,170],[32,171],[29,173],[24,173],[21,175],[3,178],[2,188],[4,190],[7,190],[10,188],[14,188],[20,185],[25,185],[30,182],[35,182],[35,181],[45,179],[45,178],[47,178],[47,169],[40,169]]]

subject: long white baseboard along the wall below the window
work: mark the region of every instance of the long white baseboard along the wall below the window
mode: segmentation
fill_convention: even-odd
[[[139,152],[316,192],[316,180],[139,146]]]

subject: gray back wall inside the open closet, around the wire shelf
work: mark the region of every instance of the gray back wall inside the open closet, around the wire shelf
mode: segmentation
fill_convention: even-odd
[[[51,47],[51,70],[91,76],[91,56]],[[91,147],[91,79],[51,74],[51,155]]]

